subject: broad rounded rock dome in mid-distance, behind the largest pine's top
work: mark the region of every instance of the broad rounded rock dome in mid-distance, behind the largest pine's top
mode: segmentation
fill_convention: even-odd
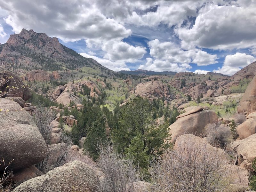
[[[133,91],[131,91],[133,94]],[[140,95],[141,97],[153,100],[155,98],[162,98],[163,96],[168,99],[170,98],[169,89],[166,84],[162,81],[153,80],[146,83],[140,83],[135,87],[135,95]]]

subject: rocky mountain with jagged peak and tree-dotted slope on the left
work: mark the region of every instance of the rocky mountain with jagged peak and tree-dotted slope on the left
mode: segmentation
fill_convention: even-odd
[[[36,33],[22,29],[20,34],[13,34],[5,44],[0,45],[0,59],[6,63],[14,63],[16,68],[60,70],[76,69],[87,66],[103,67],[93,59],[87,59],[68,47],[60,44],[56,37],[45,33]]]

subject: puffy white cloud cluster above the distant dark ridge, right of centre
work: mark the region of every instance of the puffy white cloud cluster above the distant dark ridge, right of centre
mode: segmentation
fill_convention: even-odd
[[[189,63],[196,63],[198,66],[206,66],[217,63],[217,55],[211,55],[200,49],[182,50],[179,44],[173,42],[161,43],[158,39],[148,42],[150,56],[145,65],[140,68],[148,70],[169,70],[169,71],[187,71],[192,67]]]

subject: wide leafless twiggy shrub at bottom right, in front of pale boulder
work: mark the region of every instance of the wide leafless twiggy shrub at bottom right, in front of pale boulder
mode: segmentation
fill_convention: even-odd
[[[228,163],[221,153],[208,150],[207,142],[186,139],[175,150],[168,149],[152,165],[153,191],[216,192],[231,183]]]

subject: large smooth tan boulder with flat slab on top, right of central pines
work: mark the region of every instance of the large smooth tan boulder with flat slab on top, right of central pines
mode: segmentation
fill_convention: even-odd
[[[218,116],[212,110],[200,110],[198,112],[179,117],[178,120],[169,127],[169,133],[172,137],[171,142],[175,142],[177,137],[185,133],[200,135],[207,124],[217,122]]]

